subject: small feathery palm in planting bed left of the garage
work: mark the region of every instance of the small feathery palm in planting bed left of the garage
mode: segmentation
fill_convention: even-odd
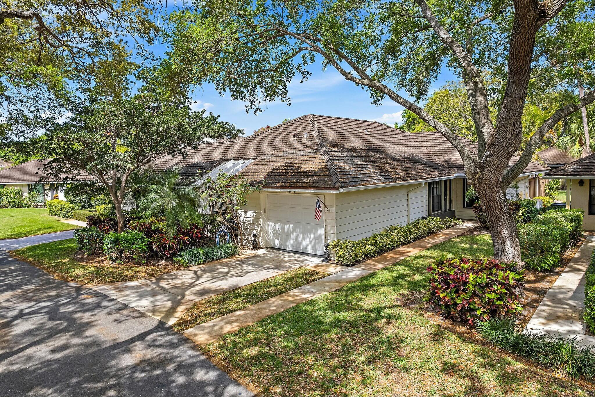
[[[187,185],[176,168],[156,174],[155,183],[140,187],[145,190],[139,200],[140,213],[143,218],[163,217],[168,237],[176,235],[178,227],[189,229],[190,224],[202,224],[199,187]]]

